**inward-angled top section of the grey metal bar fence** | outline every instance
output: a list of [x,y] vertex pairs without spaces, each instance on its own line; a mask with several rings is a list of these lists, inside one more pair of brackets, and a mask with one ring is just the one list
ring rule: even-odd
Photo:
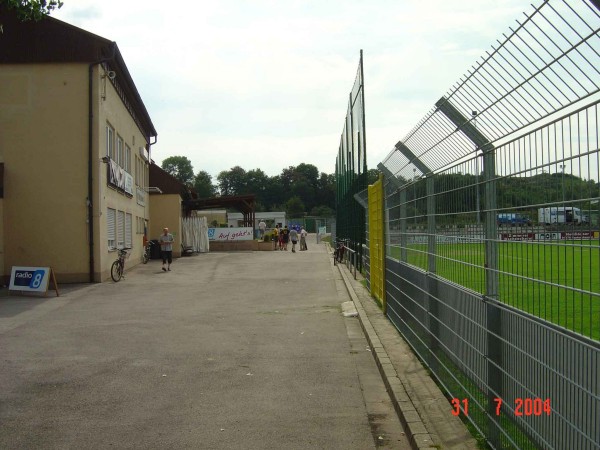
[[[438,171],[485,145],[467,138],[467,127],[499,145],[599,97],[597,6],[588,0],[545,0],[509,27],[401,142]],[[441,113],[444,103],[465,118],[463,127]],[[419,175],[413,163],[396,148],[383,161],[404,180]]]

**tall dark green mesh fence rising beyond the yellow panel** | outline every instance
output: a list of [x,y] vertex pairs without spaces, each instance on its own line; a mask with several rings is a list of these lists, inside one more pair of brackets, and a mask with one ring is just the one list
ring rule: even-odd
[[365,96],[363,54],[356,72],[348,101],[348,113],[335,162],[336,235],[347,239],[350,248],[359,256],[365,236],[365,210],[354,201],[354,195],[367,187],[367,150],[365,136]]

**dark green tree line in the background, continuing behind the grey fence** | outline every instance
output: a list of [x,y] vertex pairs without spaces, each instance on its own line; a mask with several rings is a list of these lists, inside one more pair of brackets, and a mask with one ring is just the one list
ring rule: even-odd
[[[336,206],[335,174],[319,172],[312,164],[301,163],[282,169],[279,175],[268,176],[261,169],[245,170],[240,166],[212,176],[200,170],[194,173],[191,161],[185,156],[171,156],[162,162],[162,168],[179,181],[193,189],[200,198],[254,194],[256,211],[285,211],[288,217],[320,216],[334,217]],[[378,170],[367,173],[368,184],[378,178]],[[438,214],[450,214],[448,220],[457,220],[459,211],[485,210],[485,186],[482,174],[438,174],[435,176],[436,210]],[[399,177],[400,184],[410,180]],[[477,195],[476,187],[479,187]],[[497,208],[515,209],[536,217],[536,208],[530,205],[572,202],[586,199],[578,204],[585,211],[597,211],[598,205],[590,203],[600,192],[600,184],[574,175],[540,173],[530,177],[499,177],[496,182]],[[414,198],[426,196],[424,180],[414,187],[407,187],[409,213],[426,214],[426,203],[413,202]],[[479,208],[477,207],[479,202]],[[411,210],[412,209],[412,210]],[[445,216],[442,216],[445,217]],[[440,221],[443,222],[442,217]],[[454,218],[454,219],[452,219]]]

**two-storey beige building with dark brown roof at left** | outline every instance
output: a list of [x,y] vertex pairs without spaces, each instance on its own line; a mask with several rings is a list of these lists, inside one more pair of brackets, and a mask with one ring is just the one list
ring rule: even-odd
[[141,260],[157,132],[116,43],[0,12],[0,275],[106,280]]

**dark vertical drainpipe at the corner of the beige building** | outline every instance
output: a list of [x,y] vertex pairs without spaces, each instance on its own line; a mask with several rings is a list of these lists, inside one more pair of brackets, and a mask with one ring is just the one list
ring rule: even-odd
[[88,245],[90,253],[90,283],[94,282],[95,261],[94,261],[94,205],[92,197],[94,195],[94,102],[93,102],[93,85],[94,85],[94,66],[111,61],[117,54],[117,44],[111,43],[112,55],[107,58],[102,58],[89,65],[88,72]]

